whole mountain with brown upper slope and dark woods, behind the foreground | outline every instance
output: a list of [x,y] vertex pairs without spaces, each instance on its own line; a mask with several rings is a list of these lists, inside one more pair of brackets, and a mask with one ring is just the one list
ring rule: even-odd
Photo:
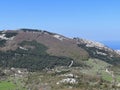
[[0,56],[3,67],[42,70],[55,66],[84,66],[83,61],[97,58],[119,64],[120,56],[103,44],[34,29],[0,32]]

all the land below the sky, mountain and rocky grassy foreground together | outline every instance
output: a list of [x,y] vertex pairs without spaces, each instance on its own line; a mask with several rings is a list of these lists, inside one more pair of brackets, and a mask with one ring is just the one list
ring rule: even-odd
[[0,85],[18,90],[119,90],[119,64],[119,52],[99,42],[35,29],[0,32]]

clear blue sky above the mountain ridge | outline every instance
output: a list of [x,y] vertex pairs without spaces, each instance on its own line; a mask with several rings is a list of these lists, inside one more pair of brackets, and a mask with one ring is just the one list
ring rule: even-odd
[[119,41],[120,0],[0,0],[0,30],[18,28]]

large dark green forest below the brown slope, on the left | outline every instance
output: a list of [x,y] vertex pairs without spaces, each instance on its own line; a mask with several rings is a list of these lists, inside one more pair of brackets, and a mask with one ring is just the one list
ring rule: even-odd
[[[15,51],[0,52],[1,67],[27,68],[30,71],[51,69],[55,66],[69,66],[68,57],[51,56],[46,53],[47,47],[36,41],[23,41]],[[25,50],[25,47],[26,50]],[[74,61],[73,66],[81,66]]]

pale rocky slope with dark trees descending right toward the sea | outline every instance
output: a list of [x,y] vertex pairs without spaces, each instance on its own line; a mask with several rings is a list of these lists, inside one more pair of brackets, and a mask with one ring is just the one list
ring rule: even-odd
[[79,47],[89,53],[91,58],[97,58],[113,65],[119,65],[120,55],[116,50],[113,50],[102,43],[74,38]]

